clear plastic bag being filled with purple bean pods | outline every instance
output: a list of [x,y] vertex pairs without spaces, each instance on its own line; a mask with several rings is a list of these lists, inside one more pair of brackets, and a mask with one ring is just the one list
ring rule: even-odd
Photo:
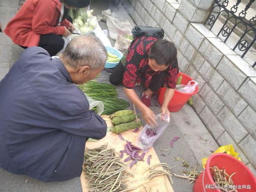
[[156,115],[155,121],[157,125],[152,127],[151,125],[146,124],[143,127],[143,130],[136,141],[137,146],[139,146],[142,150],[146,150],[147,148],[153,146],[153,144],[163,135],[166,127],[168,126],[170,118],[166,116],[165,120],[162,120],[161,115],[162,114]]

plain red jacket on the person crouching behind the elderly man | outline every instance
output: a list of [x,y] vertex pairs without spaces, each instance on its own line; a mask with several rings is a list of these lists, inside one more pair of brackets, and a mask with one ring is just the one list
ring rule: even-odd
[[64,19],[61,26],[56,26],[61,6],[60,0],[27,0],[4,32],[14,44],[26,47],[38,46],[42,34],[63,35],[64,26],[68,27],[70,22]]

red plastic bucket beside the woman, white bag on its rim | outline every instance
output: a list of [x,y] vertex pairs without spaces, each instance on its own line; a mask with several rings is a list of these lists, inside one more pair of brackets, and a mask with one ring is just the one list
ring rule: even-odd
[[[188,75],[186,75],[185,73],[179,73],[178,77],[180,77],[182,74],[182,81],[181,84],[187,84],[189,81],[193,80],[191,77],[189,77]],[[159,104],[162,106],[163,102],[164,102],[164,94],[165,94],[166,88],[161,88],[160,89],[160,93],[159,93],[159,97],[158,97],[158,102]],[[172,99],[170,100],[169,104],[168,104],[168,110],[170,112],[178,112],[180,111],[183,106],[186,104],[186,102],[188,101],[188,99],[196,94],[198,92],[198,86],[196,86],[196,89],[193,93],[184,93],[178,90],[174,91],[174,95],[172,97]]]

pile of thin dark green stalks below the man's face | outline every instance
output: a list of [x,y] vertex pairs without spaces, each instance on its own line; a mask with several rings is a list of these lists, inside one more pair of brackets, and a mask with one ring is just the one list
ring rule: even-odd
[[93,80],[80,84],[78,88],[92,99],[103,102],[104,111],[102,115],[111,115],[129,106],[126,100],[117,97],[116,88],[109,83],[101,83]]

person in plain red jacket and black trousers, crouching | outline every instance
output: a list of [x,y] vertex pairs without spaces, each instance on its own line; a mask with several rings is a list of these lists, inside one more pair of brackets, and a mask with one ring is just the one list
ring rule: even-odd
[[4,32],[14,44],[26,49],[44,48],[50,56],[64,47],[74,26],[67,20],[68,9],[84,8],[89,0],[27,0],[10,20]]

